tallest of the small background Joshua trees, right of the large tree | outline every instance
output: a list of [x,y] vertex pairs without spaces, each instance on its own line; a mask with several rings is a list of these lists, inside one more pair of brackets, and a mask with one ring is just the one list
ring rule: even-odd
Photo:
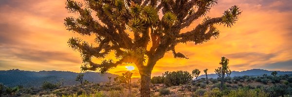
[[[225,58],[225,57],[221,57],[221,62],[219,63],[221,65],[221,84],[220,84],[220,88],[221,90],[223,90],[223,85],[224,85],[224,77],[225,77],[225,74],[226,74],[226,71],[228,71],[229,69],[229,59]],[[220,72],[220,68],[217,69],[218,72]],[[217,72],[217,70],[215,70],[215,72]],[[218,73],[217,72],[217,73]]]

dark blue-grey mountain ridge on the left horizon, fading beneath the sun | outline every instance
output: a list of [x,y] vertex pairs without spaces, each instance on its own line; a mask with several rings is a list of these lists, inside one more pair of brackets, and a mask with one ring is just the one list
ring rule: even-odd
[[[17,86],[23,85],[24,87],[40,87],[44,81],[49,81],[52,83],[57,83],[59,81],[64,81],[64,86],[80,84],[75,81],[78,73],[70,71],[24,71],[24,70],[0,70],[0,83],[6,86]],[[113,78],[118,75],[106,73],[105,75],[100,75],[98,72],[85,72],[84,80],[90,82],[107,82],[108,77]]]

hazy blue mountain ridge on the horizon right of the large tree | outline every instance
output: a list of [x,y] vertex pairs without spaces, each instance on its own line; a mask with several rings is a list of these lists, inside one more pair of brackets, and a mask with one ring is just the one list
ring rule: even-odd
[[[263,69],[251,69],[246,71],[232,71],[231,77],[235,76],[259,76],[263,74],[271,75],[273,71],[263,70]],[[285,74],[292,74],[292,71],[277,71],[277,75],[285,75]],[[201,75],[198,79],[206,78],[205,75]],[[216,74],[208,74],[208,78],[218,78]]]

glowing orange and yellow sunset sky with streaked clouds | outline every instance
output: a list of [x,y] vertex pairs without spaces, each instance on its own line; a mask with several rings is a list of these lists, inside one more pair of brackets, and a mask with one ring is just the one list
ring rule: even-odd
[[[233,27],[218,25],[219,38],[207,43],[176,46],[189,59],[175,59],[166,53],[152,76],[195,68],[214,73],[221,56],[230,59],[230,69],[235,71],[292,71],[292,0],[218,0],[207,16],[221,16],[232,5],[243,11]],[[0,0],[0,70],[80,72],[80,54],[67,44],[70,37],[79,36],[66,30],[63,23],[68,16],[76,15],[67,12],[65,0]],[[202,19],[182,32],[195,28]],[[83,38],[90,41],[94,37]],[[127,70],[125,66],[119,65],[110,73],[121,75]],[[137,68],[132,72],[139,77]]]

